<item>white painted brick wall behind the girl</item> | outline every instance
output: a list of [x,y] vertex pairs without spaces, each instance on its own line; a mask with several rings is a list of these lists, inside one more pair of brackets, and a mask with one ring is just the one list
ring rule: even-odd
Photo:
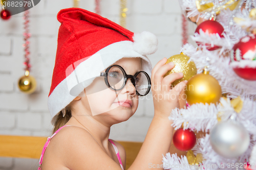
[[[52,125],[47,98],[60,26],[56,15],[60,9],[72,6],[73,0],[41,0],[30,9],[30,73],[38,85],[36,92],[30,95],[20,92],[17,86],[18,79],[24,75],[24,13],[9,20],[0,19],[0,135],[50,135]],[[101,0],[100,6],[103,17],[119,23],[119,0]],[[94,0],[81,0],[80,8],[95,12]],[[163,57],[179,54],[182,30],[178,0],[128,0],[127,8],[127,29],[150,31],[158,37],[158,51],[148,55],[153,67]],[[189,23],[189,28],[193,34],[196,26]],[[143,141],[153,116],[150,93],[140,99],[134,116],[111,128],[110,138]],[[37,165],[37,159],[0,158],[0,170],[37,169]]]

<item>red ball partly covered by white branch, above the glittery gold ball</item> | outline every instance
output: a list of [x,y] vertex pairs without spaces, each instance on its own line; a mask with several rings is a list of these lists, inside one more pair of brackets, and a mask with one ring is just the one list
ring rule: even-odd
[[[195,33],[199,33],[199,30],[202,29],[202,31],[204,33],[206,33],[206,31],[208,32],[208,34],[219,34],[220,37],[224,37],[222,35],[222,33],[224,32],[224,28],[222,27],[222,25],[214,20],[206,20],[202,23],[200,23],[200,25],[197,27]],[[202,44],[201,42],[197,42],[198,45]],[[212,50],[217,50],[218,48],[220,48],[220,46],[214,45],[213,47],[210,46],[210,44],[205,44],[207,47],[207,50],[212,51]]]

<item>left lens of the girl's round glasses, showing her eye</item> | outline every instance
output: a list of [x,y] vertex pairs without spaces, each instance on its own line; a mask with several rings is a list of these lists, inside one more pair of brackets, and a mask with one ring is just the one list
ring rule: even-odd
[[111,67],[108,73],[108,81],[113,89],[121,89],[124,83],[123,71],[117,66]]

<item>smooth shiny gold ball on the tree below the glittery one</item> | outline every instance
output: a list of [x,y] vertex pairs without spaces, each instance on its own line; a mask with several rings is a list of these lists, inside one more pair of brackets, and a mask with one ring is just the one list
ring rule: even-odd
[[189,105],[195,103],[216,104],[221,98],[221,86],[214,77],[206,72],[188,80],[185,94]]

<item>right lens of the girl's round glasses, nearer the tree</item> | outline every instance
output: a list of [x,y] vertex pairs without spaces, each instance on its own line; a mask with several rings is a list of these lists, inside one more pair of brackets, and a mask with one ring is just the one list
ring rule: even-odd
[[141,95],[146,94],[148,88],[150,88],[150,84],[148,83],[147,76],[144,72],[140,72],[135,80],[135,86]]

